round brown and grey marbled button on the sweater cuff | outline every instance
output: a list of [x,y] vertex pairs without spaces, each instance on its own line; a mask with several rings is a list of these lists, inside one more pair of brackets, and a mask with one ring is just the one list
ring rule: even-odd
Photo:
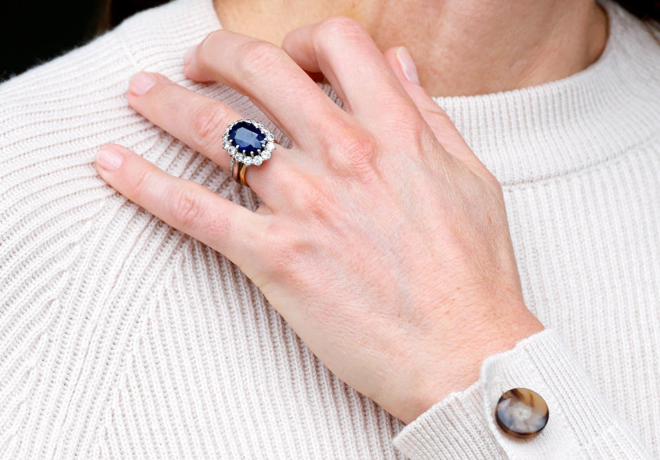
[[500,397],[495,419],[502,431],[519,439],[535,437],[548,423],[548,404],[529,388],[513,388]]

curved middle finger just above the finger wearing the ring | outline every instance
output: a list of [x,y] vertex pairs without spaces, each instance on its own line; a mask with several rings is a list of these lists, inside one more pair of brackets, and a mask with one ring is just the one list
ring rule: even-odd
[[246,94],[288,138],[315,146],[319,133],[348,115],[280,47],[228,30],[212,32],[187,54],[189,78]]

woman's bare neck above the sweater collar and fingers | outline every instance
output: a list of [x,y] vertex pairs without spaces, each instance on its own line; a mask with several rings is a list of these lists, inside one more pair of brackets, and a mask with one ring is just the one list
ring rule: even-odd
[[381,50],[404,45],[432,96],[540,85],[592,64],[607,39],[593,0],[215,0],[223,28],[279,45],[331,16],[360,21]]

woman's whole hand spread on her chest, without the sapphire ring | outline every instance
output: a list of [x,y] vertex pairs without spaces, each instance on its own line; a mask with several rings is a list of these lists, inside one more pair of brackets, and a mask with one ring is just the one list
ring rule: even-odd
[[[500,185],[407,80],[405,50],[383,56],[341,17],[282,48],[221,30],[185,59],[189,78],[248,95],[292,141],[248,167],[256,212],[121,146],[100,149],[98,173],[227,256],[330,370],[412,421],[543,329],[523,302]],[[305,71],[322,72],[345,110]],[[128,97],[228,167],[222,135],[242,114],[157,74],[137,74]]]

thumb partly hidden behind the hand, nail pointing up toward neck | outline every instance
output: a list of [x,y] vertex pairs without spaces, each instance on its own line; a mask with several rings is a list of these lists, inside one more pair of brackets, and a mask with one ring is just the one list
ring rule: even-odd
[[398,78],[403,86],[403,89],[405,89],[422,113],[424,120],[431,127],[440,144],[443,144],[445,150],[465,163],[473,173],[482,177],[486,173],[490,175],[486,166],[473,153],[462,135],[460,135],[454,123],[447,116],[447,113],[443,109],[440,109],[440,106],[419,85],[414,61],[412,61],[412,57],[405,47],[390,48],[384,55],[387,63],[394,70],[396,78]]

